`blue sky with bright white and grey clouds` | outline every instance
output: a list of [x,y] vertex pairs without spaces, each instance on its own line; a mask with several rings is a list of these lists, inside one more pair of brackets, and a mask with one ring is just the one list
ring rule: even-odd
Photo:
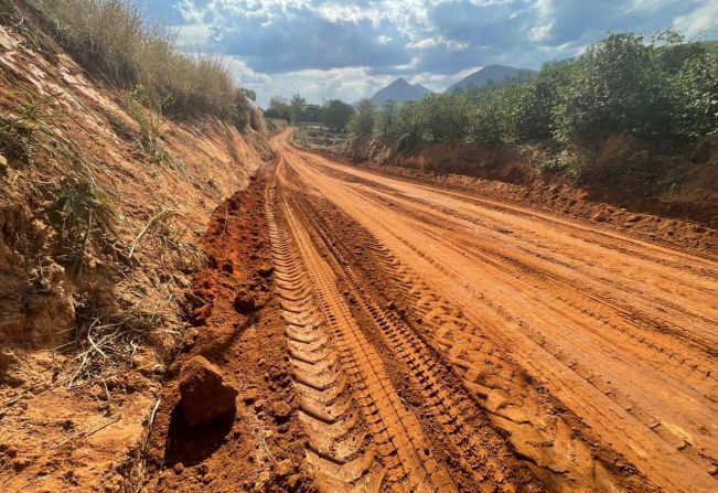
[[146,14],[237,83],[356,101],[397,77],[443,90],[482,66],[540,68],[609,32],[718,37],[718,0],[151,0]]

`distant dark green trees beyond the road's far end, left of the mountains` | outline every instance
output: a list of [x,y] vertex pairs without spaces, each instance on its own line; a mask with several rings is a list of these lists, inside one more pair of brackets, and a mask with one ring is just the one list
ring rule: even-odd
[[300,122],[323,124],[330,130],[344,131],[354,114],[354,108],[339,99],[324,101],[322,106],[308,104],[299,94],[291,99],[276,96],[269,100],[266,118],[278,118],[290,125]]

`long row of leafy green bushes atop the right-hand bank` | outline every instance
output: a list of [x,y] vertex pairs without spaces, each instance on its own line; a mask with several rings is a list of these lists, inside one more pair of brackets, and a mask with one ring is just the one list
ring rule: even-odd
[[[586,146],[623,133],[685,143],[718,133],[718,46],[667,31],[652,39],[612,34],[574,60],[544,65],[511,84],[430,95],[398,106],[360,104],[350,122],[360,138],[481,144]],[[547,172],[580,179],[577,160]]]

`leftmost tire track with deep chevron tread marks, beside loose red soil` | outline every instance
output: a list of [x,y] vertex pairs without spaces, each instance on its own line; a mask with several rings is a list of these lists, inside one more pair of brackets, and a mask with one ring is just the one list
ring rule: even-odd
[[269,201],[267,218],[299,416],[310,437],[307,462],[322,492],[379,492],[385,470],[376,461],[376,446],[352,398],[299,256],[277,226]]

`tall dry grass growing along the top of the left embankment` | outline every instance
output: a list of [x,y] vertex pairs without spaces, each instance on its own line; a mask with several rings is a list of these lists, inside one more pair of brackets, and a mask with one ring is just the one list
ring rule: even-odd
[[137,0],[30,0],[60,44],[114,86],[144,87],[152,107],[172,115],[214,115],[250,124],[254,94],[235,86],[221,61],[189,55],[167,29],[143,23]]

